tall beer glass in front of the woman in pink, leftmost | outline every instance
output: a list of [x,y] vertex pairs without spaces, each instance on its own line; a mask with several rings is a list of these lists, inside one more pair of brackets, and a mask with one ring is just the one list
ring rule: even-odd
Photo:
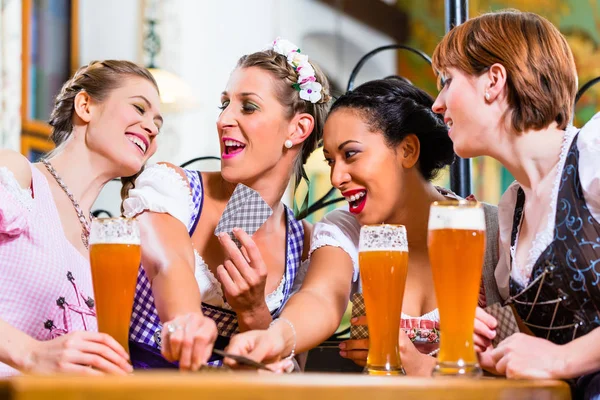
[[135,219],[92,221],[90,263],[98,331],[115,338],[126,351],[140,260],[140,229]]

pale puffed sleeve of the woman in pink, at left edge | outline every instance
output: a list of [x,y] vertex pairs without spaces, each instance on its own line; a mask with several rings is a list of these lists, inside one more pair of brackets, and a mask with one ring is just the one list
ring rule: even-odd
[[0,168],[0,236],[19,236],[28,230],[28,215],[33,207],[30,189],[23,189],[14,174]]

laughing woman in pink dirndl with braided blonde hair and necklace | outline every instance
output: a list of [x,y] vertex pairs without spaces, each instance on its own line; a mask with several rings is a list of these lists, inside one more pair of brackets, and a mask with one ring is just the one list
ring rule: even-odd
[[97,332],[89,216],[108,181],[155,152],[159,104],[147,70],[95,61],[56,97],[50,155],[32,164],[0,150],[0,376],[131,371],[125,350]]

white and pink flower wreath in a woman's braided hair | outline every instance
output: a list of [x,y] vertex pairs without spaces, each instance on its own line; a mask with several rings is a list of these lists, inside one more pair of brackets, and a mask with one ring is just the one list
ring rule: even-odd
[[294,71],[298,74],[298,81],[292,87],[300,92],[300,98],[313,104],[318,103],[323,97],[321,94],[323,86],[317,82],[315,70],[308,62],[308,56],[302,54],[298,46],[281,38],[273,42],[273,51],[284,55],[288,63],[294,67]]

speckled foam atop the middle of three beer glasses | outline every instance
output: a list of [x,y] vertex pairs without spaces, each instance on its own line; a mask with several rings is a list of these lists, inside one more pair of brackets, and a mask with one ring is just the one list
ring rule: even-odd
[[358,251],[408,251],[402,225],[365,225],[360,228]]

